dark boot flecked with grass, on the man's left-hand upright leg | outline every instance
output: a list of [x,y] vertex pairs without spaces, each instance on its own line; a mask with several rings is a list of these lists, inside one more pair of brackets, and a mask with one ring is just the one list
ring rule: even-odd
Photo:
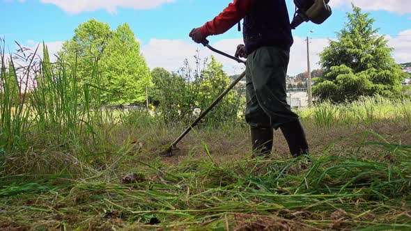
[[272,128],[251,127],[253,157],[268,156],[271,154],[273,133]]

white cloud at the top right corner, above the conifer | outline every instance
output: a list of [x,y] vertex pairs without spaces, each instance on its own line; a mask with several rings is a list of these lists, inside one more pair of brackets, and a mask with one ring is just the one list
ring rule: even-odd
[[331,0],[329,5],[332,8],[350,7],[351,3],[363,10],[386,10],[401,15],[411,13],[410,1],[404,0]]

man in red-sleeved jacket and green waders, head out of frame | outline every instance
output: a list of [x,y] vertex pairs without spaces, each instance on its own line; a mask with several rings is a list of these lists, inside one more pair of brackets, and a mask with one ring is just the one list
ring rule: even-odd
[[308,154],[300,118],[286,102],[286,72],[293,36],[285,0],[234,0],[189,36],[200,43],[209,35],[228,31],[241,19],[245,45],[238,45],[235,56],[247,58],[245,118],[251,128],[253,154],[270,154],[273,129],[279,128],[293,157]]

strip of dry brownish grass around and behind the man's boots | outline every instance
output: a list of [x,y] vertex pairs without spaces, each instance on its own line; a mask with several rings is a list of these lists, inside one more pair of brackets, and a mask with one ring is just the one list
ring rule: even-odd
[[[381,120],[373,125],[362,126],[346,126],[335,125],[327,129],[319,129],[313,123],[304,122],[306,129],[307,140],[309,142],[311,153],[316,156],[322,154],[329,145],[333,145],[333,154],[343,157],[346,153],[356,152],[359,145],[366,141],[380,142],[380,138],[367,132],[375,132],[384,137],[389,143],[398,143],[403,145],[411,145],[411,129],[408,126],[398,124],[391,120]],[[183,129],[173,129],[167,131],[166,134],[149,134],[147,140],[141,139],[143,150],[141,150],[141,159],[150,161],[159,148],[166,146],[173,138],[179,135]],[[155,131],[153,131],[155,132]],[[186,160],[201,160],[207,161],[208,155],[201,143],[203,140],[210,150],[213,159],[218,164],[227,164],[231,161],[240,161],[251,158],[251,140],[249,137],[249,129],[244,127],[236,127],[231,134],[225,131],[215,129],[212,133],[199,129],[200,137],[196,134],[188,134],[181,143],[178,144],[179,150],[173,152],[171,158],[160,159],[160,162],[167,166],[176,166]],[[367,135],[369,134],[369,135]],[[157,136],[157,138],[152,138]],[[151,137],[151,138],[149,138]],[[165,142],[164,142],[165,141]],[[160,143],[160,145],[158,145]],[[380,158],[380,149],[364,148],[363,157],[370,159]],[[149,154],[147,154],[147,152]],[[274,133],[274,147],[271,159],[286,160],[290,158],[288,153],[288,145],[281,131]]]

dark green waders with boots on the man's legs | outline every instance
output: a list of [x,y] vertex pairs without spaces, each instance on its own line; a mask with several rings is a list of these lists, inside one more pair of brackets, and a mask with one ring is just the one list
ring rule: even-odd
[[247,108],[253,154],[270,154],[273,129],[281,128],[293,157],[308,154],[300,118],[287,103],[286,73],[290,51],[260,47],[247,56]]

